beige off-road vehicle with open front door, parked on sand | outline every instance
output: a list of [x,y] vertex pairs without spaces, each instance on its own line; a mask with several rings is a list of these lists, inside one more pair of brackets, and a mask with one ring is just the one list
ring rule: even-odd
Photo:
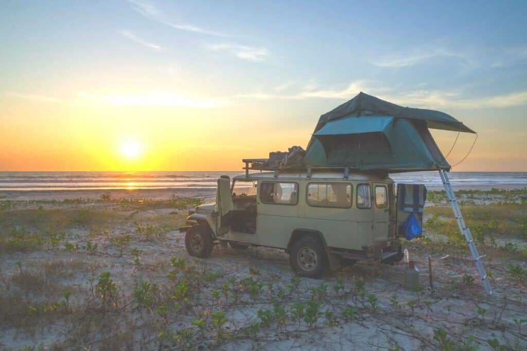
[[[319,278],[346,260],[402,259],[389,177],[338,170],[246,173],[218,179],[216,203],[189,213],[185,244],[206,258],[214,244],[284,249],[292,269]],[[419,216],[419,219],[420,216]],[[397,224],[397,225],[395,225]]]

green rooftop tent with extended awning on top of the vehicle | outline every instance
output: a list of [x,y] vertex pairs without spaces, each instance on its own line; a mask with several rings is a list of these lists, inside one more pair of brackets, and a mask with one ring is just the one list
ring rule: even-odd
[[450,171],[428,128],[475,133],[454,117],[359,93],[320,116],[304,165],[388,173]]

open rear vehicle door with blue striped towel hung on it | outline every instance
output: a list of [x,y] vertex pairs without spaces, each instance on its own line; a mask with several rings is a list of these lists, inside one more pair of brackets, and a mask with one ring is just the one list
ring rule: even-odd
[[395,218],[398,237],[405,236],[404,223],[410,215],[414,215],[421,227],[423,227],[426,192],[426,186],[423,184],[397,184],[397,212]]

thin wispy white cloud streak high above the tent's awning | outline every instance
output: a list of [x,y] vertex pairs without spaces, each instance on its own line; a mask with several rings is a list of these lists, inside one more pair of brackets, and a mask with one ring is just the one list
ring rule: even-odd
[[464,53],[455,52],[445,48],[415,49],[411,53],[393,55],[392,57],[372,61],[378,67],[405,67],[413,66],[436,57],[456,57],[462,59],[466,64],[473,66],[472,59]]

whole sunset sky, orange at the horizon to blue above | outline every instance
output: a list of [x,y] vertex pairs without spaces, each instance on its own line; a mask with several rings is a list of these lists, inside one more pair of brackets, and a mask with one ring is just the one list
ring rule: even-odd
[[[525,2],[0,3],[0,171],[218,171],[306,147],[363,91],[527,171]],[[457,133],[432,131],[446,154]],[[447,160],[469,152],[461,134]]]

